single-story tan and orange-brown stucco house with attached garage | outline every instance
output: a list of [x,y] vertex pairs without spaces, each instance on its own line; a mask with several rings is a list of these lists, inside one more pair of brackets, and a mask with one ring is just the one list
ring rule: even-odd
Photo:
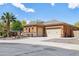
[[79,28],[57,20],[44,23],[31,23],[24,27],[23,35],[27,37],[73,37]]

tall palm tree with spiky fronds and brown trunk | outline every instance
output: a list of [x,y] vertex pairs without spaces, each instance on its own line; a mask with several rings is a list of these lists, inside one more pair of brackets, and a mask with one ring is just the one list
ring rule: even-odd
[[15,19],[16,17],[10,12],[5,12],[1,16],[1,20],[3,20],[5,24],[5,28],[6,28],[5,30],[7,33],[7,37],[9,37],[9,33],[10,33],[10,22],[15,21]]

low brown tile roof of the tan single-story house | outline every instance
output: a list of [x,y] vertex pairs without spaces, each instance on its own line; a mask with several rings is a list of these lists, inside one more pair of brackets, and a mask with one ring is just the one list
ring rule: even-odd
[[[73,28],[77,28],[74,25],[62,22],[62,21],[58,21],[58,20],[51,20],[51,21],[47,21],[47,22],[42,22],[42,21],[34,21],[34,22],[30,22],[28,25],[26,26],[32,26],[32,25],[38,25],[38,26],[45,26],[45,25],[57,25],[57,24],[65,24],[68,26],[71,26]],[[77,28],[79,29],[79,28]]]

